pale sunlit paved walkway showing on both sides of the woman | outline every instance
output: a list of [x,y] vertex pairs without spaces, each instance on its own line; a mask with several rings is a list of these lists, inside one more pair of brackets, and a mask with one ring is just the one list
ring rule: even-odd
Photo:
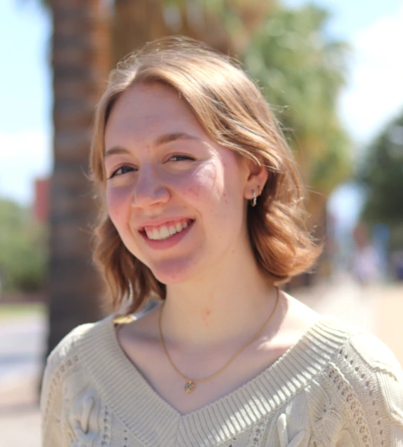
[[[374,333],[403,365],[403,283],[362,289],[348,277],[337,277],[294,296],[321,314],[333,314]],[[37,385],[33,373],[0,380],[0,447],[40,447]]]

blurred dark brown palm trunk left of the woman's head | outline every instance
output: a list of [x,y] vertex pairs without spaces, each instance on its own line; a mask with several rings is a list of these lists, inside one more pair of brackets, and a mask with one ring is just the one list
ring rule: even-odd
[[48,352],[72,328],[102,316],[92,265],[94,199],[87,179],[91,123],[110,67],[103,0],[49,0],[53,18],[54,168],[50,184]]

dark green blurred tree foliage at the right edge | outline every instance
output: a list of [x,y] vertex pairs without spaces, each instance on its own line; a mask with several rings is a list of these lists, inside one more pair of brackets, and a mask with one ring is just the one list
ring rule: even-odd
[[403,113],[370,145],[359,177],[368,188],[364,219],[402,226]]

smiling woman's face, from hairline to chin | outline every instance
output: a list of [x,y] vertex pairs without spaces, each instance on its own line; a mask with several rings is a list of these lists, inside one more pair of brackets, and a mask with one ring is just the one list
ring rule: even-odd
[[160,282],[208,275],[248,240],[248,164],[209,138],[174,89],[124,92],[105,147],[109,216]]

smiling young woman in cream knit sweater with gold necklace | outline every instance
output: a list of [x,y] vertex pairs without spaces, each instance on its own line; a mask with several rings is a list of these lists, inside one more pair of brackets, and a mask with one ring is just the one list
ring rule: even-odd
[[292,153],[237,65],[185,38],[128,57],[91,164],[118,311],[50,355],[44,446],[403,445],[392,353],[277,286],[319,248]]

